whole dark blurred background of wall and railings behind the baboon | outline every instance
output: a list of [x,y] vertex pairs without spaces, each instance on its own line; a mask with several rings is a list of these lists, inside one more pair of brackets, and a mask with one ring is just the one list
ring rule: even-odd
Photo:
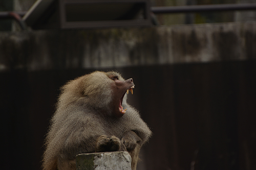
[[156,12],[255,0],[35,2],[0,1],[1,169],[41,169],[59,87],[94,70],[134,79],[153,131],[137,169],[256,169],[256,8]]

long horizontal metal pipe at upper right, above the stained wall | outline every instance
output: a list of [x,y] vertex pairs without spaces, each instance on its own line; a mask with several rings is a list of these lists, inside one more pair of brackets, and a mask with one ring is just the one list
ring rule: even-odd
[[223,4],[223,5],[191,5],[191,6],[176,6],[176,7],[151,7],[151,11],[155,14],[187,13],[187,12],[241,11],[241,10],[256,10],[256,3]]

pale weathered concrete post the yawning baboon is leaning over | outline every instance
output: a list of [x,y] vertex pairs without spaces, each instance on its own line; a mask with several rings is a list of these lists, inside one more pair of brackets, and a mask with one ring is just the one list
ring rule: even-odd
[[76,156],[76,169],[125,169],[131,170],[132,158],[128,152],[101,152]]

